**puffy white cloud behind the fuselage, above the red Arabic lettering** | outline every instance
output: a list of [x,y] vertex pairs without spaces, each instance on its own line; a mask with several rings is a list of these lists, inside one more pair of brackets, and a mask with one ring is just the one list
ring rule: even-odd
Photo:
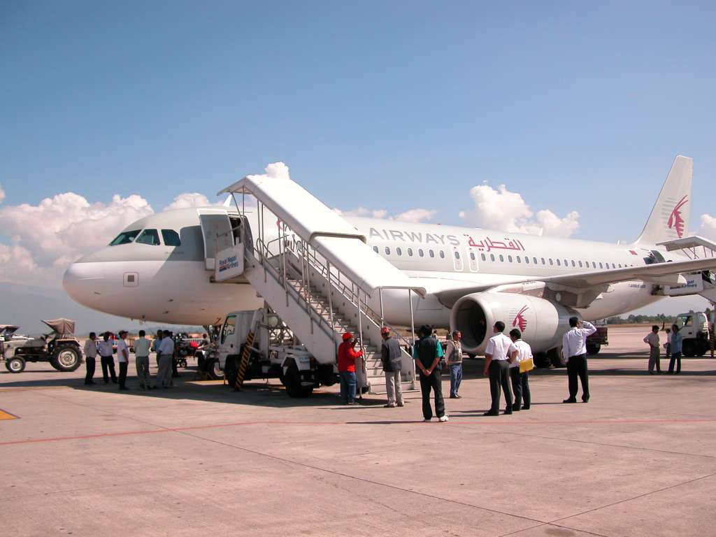
[[569,237],[579,229],[576,211],[567,213],[564,218],[548,209],[533,213],[522,196],[510,192],[505,185],[498,186],[497,190],[489,185],[474,186],[470,189],[470,198],[475,208],[460,212],[460,218],[468,226],[558,237]]

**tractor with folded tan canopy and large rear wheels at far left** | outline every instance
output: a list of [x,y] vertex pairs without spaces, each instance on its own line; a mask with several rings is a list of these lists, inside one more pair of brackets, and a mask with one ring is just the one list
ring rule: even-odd
[[82,350],[74,337],[74,321],[42,321],[52,329],[49,334],[32,339],[10,339],[2,342],[1,352],[9,372],[19,373],[27,362],[49,362],[58,371],[74,371],[82,364]]

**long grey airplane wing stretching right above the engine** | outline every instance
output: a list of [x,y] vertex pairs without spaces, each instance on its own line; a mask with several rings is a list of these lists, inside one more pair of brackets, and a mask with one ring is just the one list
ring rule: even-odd
[[[626,269],[608,269],[589,272],[574,272],[561,274],[559,276],[548,276],[546,278],[524,277],[511,281],[503,281],[500,284],[473,284],[460,287],[453,287],[445,291],[438,291],[437,298],[442,304],[451,308],[460,297],[470,293],[479,293],[489,289],[508,288],[515,284],[556,284],[565,286],[576,291],[588,289],[606,288],[609,284],[618,284],[621,281],[655,281],[664,283],[663,279],[671,277],[673,281],[667,284],[676,285],[676,277],[679,274],[716,270],[716,258],[693,259],[690,261],[669,261],[666,263],[653,263],[651,265],[630,266]],[[659,280],[662,281],[659,281]],[[525,286],[527,287],[527,286]],[[509,292],[519,292],[516,289],[505,289]],[[527,289],[525,290],[525,292]],[[601,291],[599,291],[601,292]]]

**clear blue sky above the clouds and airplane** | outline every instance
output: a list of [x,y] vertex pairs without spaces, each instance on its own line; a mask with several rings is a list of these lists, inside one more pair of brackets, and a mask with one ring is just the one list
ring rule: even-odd
[[[260,5],[259,5],[260,4]],[[155,208],[283,160],[329,205],[438,210],[505,183],[635,238],[674,155],[713,213],[716,4],[0,4],[6,204]]]

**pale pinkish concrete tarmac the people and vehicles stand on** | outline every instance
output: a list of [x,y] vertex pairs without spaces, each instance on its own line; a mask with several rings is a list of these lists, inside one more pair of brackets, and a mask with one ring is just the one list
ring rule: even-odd
[[589,403],[563,405],[566,370],[540,369],[511,416],[483,417],[468,359],[446,423],[422,422],[420,392],[346,407],[337,387],[233,392],[191,368],[144,392],[133,360],[130,392],[99,364],[91,388],[84,366],[3,368],[0,535],[714,536],[716,361],[649,375],[647,333],[610,329]]

